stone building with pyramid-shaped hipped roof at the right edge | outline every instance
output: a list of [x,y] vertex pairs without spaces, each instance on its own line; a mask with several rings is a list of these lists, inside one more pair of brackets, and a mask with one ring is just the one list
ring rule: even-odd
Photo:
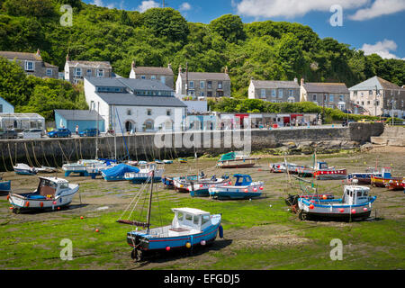
[[354,85],[349,91],[355,113],[364,110],[369,115],[380,116],[392,115],[393,111],[395,117],[405,116],[405,89],[379,76]]

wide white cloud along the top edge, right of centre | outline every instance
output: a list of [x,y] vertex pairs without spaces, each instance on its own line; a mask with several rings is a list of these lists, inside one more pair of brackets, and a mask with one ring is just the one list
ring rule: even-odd
[[[402,0],[403,1],[403,0]],[[238,14],[253,17],[294,17],[311,11],[329,12],[330,6],[339,4],[343,9],[354,9],[369,0],[241,0],[236,4]]]

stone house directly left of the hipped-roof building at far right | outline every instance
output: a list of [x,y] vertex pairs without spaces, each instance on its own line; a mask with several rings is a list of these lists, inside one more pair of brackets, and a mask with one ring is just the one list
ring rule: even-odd
[[345,83],[305,83],[302,78],[300,100],[342,111],[350,108],[350,94]]

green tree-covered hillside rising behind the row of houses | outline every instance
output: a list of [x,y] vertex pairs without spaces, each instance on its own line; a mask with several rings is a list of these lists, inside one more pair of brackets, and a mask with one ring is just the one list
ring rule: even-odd
[[[65,13],[59,10],[61,4],[73,7],[73,26],[59,23]],[[237,98],[247,97],[251,77],[303,76],[306,81],[352,86],[378,75],[405,84],[405,61],[365,56],[337,40],[320,39],[311,27],[299,23],[242,23],[232,14],[209,24],[187,23],[172,8],[139,13],[80,0],[0,0],[0,7],[0,50],[39,48],[42,58],[60,71],[67,53],[70,59],[110,61],[121,76],[129,76],[132,60],[139,66],[171,63],[175,75],[185,62],[190,71],[218,72],[228,66]]]

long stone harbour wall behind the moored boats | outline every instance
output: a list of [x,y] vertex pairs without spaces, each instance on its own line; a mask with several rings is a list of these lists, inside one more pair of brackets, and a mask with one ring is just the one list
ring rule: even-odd
[[[130,158],[134,160],[153,160],[190,157],[195,153],[198,156],[205,153],[219,155],[232,150],[242,150],[244,146],[241,145],[245,145],[246,148],[246,144],[250,145],[251,151],[277,148],[286,142],[305,141],[342,141],[351,143],[350,146],[356,146],[370,141],[371,137],[380,136],[383,130],[383,123],[350,123],[349,127],[251,130],[251,140],[247,139],[247,142],[244,142],[243,130],[186,131],[165,134],[166,139],[161,136],[161,142],[157,141],[158,146],[155,134],[139,133],[124,137],[117,136],[116,150],[118,158],[130,154]],[[233,137],[240,140],[233,141]],[[61,166],[63,163],[82,158],[94,158],[96,140],[96,138],[0,140],[0,170],[11,170],[15,163],[26,163],[31,166]],[[162,144],[164,140],[166,145]],[[194,147],[193,143],[195,143]],[[164,147],[159,148],[161,146]],[[114,137],[98,138],[98,148],[98,157],[114,157]]]

